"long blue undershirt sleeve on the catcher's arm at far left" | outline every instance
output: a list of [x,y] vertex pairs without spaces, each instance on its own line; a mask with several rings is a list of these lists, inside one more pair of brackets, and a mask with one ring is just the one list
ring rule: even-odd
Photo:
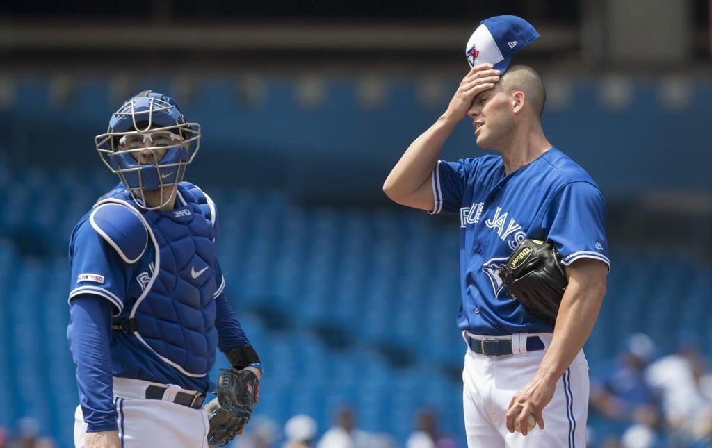
[[114,305],[103,297],[73,297],[67,328],[87,432],[116,430],[109,339]]

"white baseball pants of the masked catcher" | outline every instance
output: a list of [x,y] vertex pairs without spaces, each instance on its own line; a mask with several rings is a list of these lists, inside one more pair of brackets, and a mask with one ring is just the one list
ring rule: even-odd
[[[114,379],[114,404],[122,448],[208,448],[208,415],[163,400],[146,400],[147,381]],[[84,447],[87,425],[82,409],[74,413],[74,444]]]

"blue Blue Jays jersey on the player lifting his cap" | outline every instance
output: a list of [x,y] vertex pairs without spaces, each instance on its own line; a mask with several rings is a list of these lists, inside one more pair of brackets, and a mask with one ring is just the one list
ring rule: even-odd
[[553,331],[508,297],[497,274],[525,238],[552,241],[564,265],[580,258],[609,265],[603,195],[556,148],[508,176],[501,156],[487,155],[439,161],[431,179],[431,213],[459,214],[460,329],[492,336]]

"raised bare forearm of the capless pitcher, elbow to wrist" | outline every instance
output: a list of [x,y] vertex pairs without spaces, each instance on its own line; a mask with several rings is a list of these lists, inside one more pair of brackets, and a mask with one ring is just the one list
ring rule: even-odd
[[408,146],[383,184],[383,191],[390,198],[408,196],[430,178],[440,151],[458,121],[446,112]]

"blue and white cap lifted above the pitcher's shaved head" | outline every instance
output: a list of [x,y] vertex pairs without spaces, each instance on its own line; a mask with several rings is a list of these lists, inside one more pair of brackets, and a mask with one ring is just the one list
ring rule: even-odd
[[504,73],[511,56],[520,48],[528,46],[539,37],[531,23],[517,16],[486,18],[470,36],[465,47],[465,56],[470,68],[490,63]]

